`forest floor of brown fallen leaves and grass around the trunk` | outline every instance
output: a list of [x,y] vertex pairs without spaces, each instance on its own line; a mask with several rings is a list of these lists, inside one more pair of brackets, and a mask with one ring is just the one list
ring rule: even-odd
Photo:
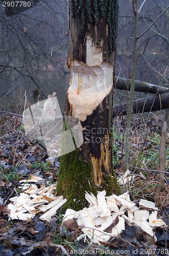
[[[137,205],[140,199],[153,201],[158,183],[159,146],[164,112],[135,115],[132,119],[129,170],[131,180],[122,184]],[[113,161],[117,178],[124,172],[124,136],[126,117],[114,120]],[[43,141],[31,141],[24,134],[21,118],[9,113],[0,116],[0,255],[169,255],[169,136],[165,150],[164,183],[157,207],[158,218],[165,225],[154,227],[150,236],[138,226],[125,222],[125,229],[109,241],[95,244],[72,224],[63,232],[63,212],[58,209],[50,222],[41,220],[42,213],[26,220],[11,219],[10,199],[24,192],[26,180],[34,175],[31,185],[39,189],[55,184],[58,179],[59,158],[49,161]],[[135,168],[137,167],[137,168]],[[154,170],[154,172],[153,172]],[[150,172],[149,172],[150,171]],[[39,179],[38,179],[39,177]],[[21,180],[24,179],[23,185]],[[34,186],[35,187],[35,186]],[[54,191],[54,190],[53,190]],[[53,194],[53,197],[57,195]],[[77,223],[76,223],[77,224]],[[76,241],[77,237],[81,239]]]

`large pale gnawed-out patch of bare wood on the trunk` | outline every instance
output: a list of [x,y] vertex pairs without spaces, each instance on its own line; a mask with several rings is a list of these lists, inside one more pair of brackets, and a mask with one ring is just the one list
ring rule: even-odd
[[93,113],[112,88],[112,66],[105,62],[99,64],[88,66],[73,61],[67,95],[72,115],[80,121]]

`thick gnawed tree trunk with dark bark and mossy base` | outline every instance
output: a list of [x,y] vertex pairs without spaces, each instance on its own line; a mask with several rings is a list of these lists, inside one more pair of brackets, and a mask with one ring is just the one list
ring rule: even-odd
[[118,24],[117,0],[72,0],[65,115],[81,122],[83,144],[60,159],[58,193],[73,209],[85,190],[119,192],[111,165],[112,86]]

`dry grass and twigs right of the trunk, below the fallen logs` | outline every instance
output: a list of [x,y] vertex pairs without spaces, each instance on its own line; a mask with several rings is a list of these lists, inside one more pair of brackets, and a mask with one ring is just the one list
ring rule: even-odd
[[[131,198],[137,200],[140,198],[153,201],[155,187],[159,184],[159,173],[151,170],[159,170],[159,145],[161,138],[161,127],[163,124],[164,112],[157,112],[156,115],[136,115],[132,119],[132,134],[130,144],[129,170],[134,175],[134,178],[128,182],[123,188],[124,191],[129,190]],[[122,176],[124,172],[124,142],[122,130],[126,125],[126,117],[123,120],[118,117],[115,120],[114,145],[114,163],[120,164],[118,169],[115,169],[117,176]],[[119,141],[121,143],[119,143]],[[165,149],[165,170],[169,170],[169,134],[167,134],[166,149]],[[121,152],[121,154],[120,154]],[[116,154],[118,153],[118,154]],[[119,156],[120,157],[117,157]],[[136,169],[139,167],[141,169]],[[147,170],[150,170],[148,172]],[[169,173],[168,173],[169,175]],[[165,208],[169,205],[168,191],[168,175],[166,174],[164,184],[158,198],[158,207]]]

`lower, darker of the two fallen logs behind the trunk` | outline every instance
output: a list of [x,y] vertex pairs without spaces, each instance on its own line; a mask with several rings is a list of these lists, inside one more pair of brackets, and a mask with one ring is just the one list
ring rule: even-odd
[[[155,96],[137,99],[133,101],[133,114],[139,112],[150,112],[169,109],[169,92],[156,94]],[[112,117],[120,114],[127,115],[128,103],[119,103],[114,105]]]

